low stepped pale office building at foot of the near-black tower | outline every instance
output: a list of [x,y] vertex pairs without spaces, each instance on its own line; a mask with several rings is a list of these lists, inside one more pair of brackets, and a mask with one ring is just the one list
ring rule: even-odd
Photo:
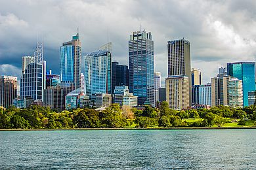
[[114,103],[119,104],[121,107],[123,105],[129,107],[135,107],[138,105],[138,97],[129,93],[128,86],[116,86],[114,91]]

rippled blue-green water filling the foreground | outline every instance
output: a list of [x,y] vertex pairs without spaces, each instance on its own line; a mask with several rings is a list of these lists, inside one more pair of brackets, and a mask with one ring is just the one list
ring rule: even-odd
[[0,131],[0,169],[255,169],[256,129]]

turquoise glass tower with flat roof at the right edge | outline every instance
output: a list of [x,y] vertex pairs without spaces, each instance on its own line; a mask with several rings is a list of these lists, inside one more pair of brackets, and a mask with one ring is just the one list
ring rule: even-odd
[[255,90],[255,62],[227,63],[228,75],[243,83],[244,107],[248,106],[248,92]]

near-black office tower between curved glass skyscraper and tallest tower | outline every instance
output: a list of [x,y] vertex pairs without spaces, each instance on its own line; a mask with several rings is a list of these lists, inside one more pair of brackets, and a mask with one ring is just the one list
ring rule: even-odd
[[112,93],[116,86],[129,86],[129,69],[115,61],[112,62]]

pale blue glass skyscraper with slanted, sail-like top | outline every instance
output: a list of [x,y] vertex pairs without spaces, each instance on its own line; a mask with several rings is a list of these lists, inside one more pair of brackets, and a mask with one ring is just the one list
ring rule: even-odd
[[85,88],[91,100],[96,93],[111,93],[111,58],[106,50],[85,56]]

